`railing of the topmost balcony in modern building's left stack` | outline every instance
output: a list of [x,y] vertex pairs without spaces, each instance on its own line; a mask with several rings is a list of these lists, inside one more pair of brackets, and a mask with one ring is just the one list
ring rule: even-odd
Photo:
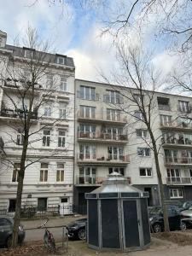
[[86,115],[84,113],[78,112],[78,119],[86,119],[86,121],[105,121],[105,122],[119,122],[119,123],[126,123],[127,119],[125,116],[121,116],[120,114],[114,114],[114,115],[107,115],[107,112],[101,112],[101,113],[92,113],[90,115]]

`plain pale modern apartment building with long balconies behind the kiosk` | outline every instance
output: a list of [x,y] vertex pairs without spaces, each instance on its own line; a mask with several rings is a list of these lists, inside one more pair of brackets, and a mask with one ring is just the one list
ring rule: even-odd
[[[122,93],[123,90],[123,93]],[[148,205],[160,204],[158,178],[150,137],[142,114],[129,98],[137,90],[91,81],[75,81],[74,202],[84,206],[84,193],[101,186],[110,172],[148,191]],[[125,94],[127,93],[127,97]],[[143,93],[148,105],[147,95]],[[124,95],[124,96],[122,96]],[[192,200],[191,98],[155,93],[150,113],[160,148],[160,171],[166,201]],[[129,106],[129,113],[125,109]]]

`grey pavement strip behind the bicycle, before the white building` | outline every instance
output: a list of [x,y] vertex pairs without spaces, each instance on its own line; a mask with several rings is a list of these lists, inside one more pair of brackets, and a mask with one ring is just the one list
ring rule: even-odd
[[[54,227],[62,227],[72,221],[75,221],[79,218],[86,218],[83,215],[79,215],[78,217],[74,217],[73,215],[70,216],[64,216],[64,217],[55,217],[55,218],[49,218],[49,221],[47,223],[48,228],[54,228]],[[41,224],[44,223],[45,218],[42,219],[21,219],[20,223],[24,226],[25,230],[34,230],[37,229]]]

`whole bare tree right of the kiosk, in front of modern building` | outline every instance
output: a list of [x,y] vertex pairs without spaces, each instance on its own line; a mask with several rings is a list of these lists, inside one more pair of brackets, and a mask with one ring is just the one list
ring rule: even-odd
[[[114,103],[113,107],[119,108],[121,112],[129,117],[128,127],[136,127],[137,124],[148,131],[149,140],[143,138],[154,153],[154,163],[160,189],[160,202],[163,209],[165,231],[169,231],[164,186],[160,170],[160,148],[163,144],[162,135],[158,132],[159,113],[157,111],[156,91],[160,89],[160,73],[156,73],[151,64],[150,55],[145,54],[141,47],[130,44],[117,45],[117,58],[119,61],[119,72],[113,73],[113,82],[124,86],[111,85],[113,90],[124,97],[124,104]],[[102,74],[109,83],[109,79]],[[111,104],[111,103],[110,103]],[[113,105],[113,104],[112,104]]]

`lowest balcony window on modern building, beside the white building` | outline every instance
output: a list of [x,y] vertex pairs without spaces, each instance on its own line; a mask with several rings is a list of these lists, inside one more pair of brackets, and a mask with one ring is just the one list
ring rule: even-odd
[[96,183],[96,168],[85,166],[79,168],[79,183],[80,184],[95,184]]

